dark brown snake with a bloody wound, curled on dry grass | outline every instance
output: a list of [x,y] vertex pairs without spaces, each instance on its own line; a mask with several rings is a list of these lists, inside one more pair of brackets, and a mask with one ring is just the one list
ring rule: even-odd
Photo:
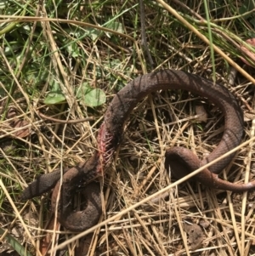
[[[59,170],[42,174],[26,187],[21,199],[28,200],[41,196],[53,189],[51,204],[61,225],[67,230],[76,232],[95,225],[102,213],[102,202],[99,183],[95,183],[94,179],[103,176],[109,167],[113,153],[121,144],[125,124],[133,108],[148,94],[168,89],[188,90],[192,94],[206,98],[224,114],[222,139],[208,156],[199,160],[192,151],[181,146],[173,146],[166,150],[165,168],[171,169],[173,176],[182,178],[241,144],[244,128],[243,112],[228,88],[185,71],[154,71],[128,82],[111,100],[99,128],[97,148],[88,161],[79,162],[73,168],[66,168],[63,174]],[[246,184],[231,183],[218,177],[234,156],[235,153],[225,156],[209,168],[204,168],[199,174],[195,174],[193,179],[218,190],[235,192],[254,190],[255,181]],[[75,212],[71,199],[77,191],[82,191],[82,187],[85,187],[83,196],[87,198],[87,205]]]

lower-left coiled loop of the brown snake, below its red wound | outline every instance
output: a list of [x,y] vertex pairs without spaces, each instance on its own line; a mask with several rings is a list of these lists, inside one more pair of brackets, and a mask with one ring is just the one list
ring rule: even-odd
[[[102,202],[100,197],[99,184],[91,181],[99,176],[99,154],[89,158],[87,162],[82,163],[80,167],[71,168],[63,175],[62,185],[60,187],[60,196],[58,202],[60,181],[54,187],[51,196],[51,207],[53,212],[58,205],[58,219],[61,225],[71,231],[87,230],[95,225],[102,213]],[[84,170],[87,171],[84,179]],[[84,181],[84,182],[82,182]],[[79,185],[85,186],[82,190],[83,196],[87,199],[86,208],[82,211],[73,212],[72,197],[79,190]],[[80,188],[81,190],[81,188]]]

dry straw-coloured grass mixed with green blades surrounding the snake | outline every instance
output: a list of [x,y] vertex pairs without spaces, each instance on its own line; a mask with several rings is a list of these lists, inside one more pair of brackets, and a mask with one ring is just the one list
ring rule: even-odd
[[[187,1],[181,6],[178,1],[173,2],[173,9],[209,38],[206,23],[200,20],[206,17],[203,3]],[[252,138],[252,83],[238,74],[235,84],[229,85],[230,67],[224,55],[216,50],[213,60],[208,44],[169,14],[166,7],[162,8],[157,2],[144,3],[147,43],[155,69],[180,69],[211,80],[216,77],[217,82],[225,84],[235,94],[246,113],[244,141]],[[26,3],[23,4],[22,10]],[[237,16],[241,5],[245,3],[211,3],[209,8],[213,43],[234,62],[233,65],[243,66],[237,46],[241,39],[254,37],[254,14]],[[53,248],[59,239],[59,226],[48,225],[50,197],[20,202],[22,189],[38,174],[88,159],[96,149],[97,130],[114,94],[133,77],[153,69],[140,45],[139,6],[135,1],[122,4],[48,1],[45,7],[34,2],[27,3],[21,13],[20,6],[10,1],[8,9],[4,10],[3,14],[18,11],[14,18],[26,17],[14,23],[0,16],[3,24],[0,31],[0,93],[3,95],[0,223],[31,255],[40,255],[40,251],[45,250],[42,247],[49,243],[45,238],[37,238],[47,234],[53,242],[49,246]],[[56,18],[62,20],[53,20]],[[110,33],[112,25],[106,26],[108,31],[102,28],[109,20],[121,24],[122,29]],[[86,34],[88,30],[94,40],[91,34]],[[253,75],[252,68],[245,67],[242,73],[246,76],[245,71]],[[91,108],[77,101],[75,88],[83,82],[102,88],[107,96],[106,104]],[[45,105],[43,100],[55,84],[59,84],[66,102]],[[200,104],[209,115],[206,123],[198,122],[195,116],[195,105]],[[14,110],[15,115],[9,116],[9,110]],[[55,123],[40,117],[38,111],[49,117],[58,114],[56,118],[63,120],[94,117],[94,121]],[[14,127],[17,117],[25,121],[20,124],[21,128]],[[202,158],[218,144],[223,125],[224,118],[213,105],[189,93],[164,91],[144,99],[128,120],[122,145],[101,180],[104,213],[100,223],[104,225],[94,227],[91,233],[94,235],[87,236],[88,255],[190,255],[189,240],[184,232],[187,219],[195,224],[201,220],[207,224],[202,230],[202,248],[192,255],[254,254],[253,193],[226,193],[191,182],[173,187],[133,208],[175,180],[164,170],[166,147],[183,145]],[[17,129],[25,129],[26,134],[17,134]],[[245,172],[248,177],[253,160],[252,144],[241,147],[223,174],[224,179],[236,182],[244,179]],[[68,231],[61,231],[63,233],[69,255],[82,255],[74,253],[79,245],[77,236]],[[75,242],[70,243],[68,239],[72,236]],[[2,245],[8,247],[9,242],[2,242]]]

